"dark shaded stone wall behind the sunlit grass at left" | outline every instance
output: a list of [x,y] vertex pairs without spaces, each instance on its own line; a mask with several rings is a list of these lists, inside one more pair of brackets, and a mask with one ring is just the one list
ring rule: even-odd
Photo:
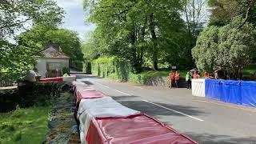
[[23,82],[18,89],[0,90],[0,113],[15,110],[17,105],[22,108],[49,105],[71,87],[71,82]]

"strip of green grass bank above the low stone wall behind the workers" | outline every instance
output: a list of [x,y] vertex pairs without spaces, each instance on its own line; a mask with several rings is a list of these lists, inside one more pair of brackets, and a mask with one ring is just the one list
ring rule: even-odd
[[[175,70],[173,70],[175,73]],[[186,78],[186,70],[178,70],[181,78]],[[141,74],[146,77],[168,77],[170,73],[170,70],[149,70],[144,71]]]

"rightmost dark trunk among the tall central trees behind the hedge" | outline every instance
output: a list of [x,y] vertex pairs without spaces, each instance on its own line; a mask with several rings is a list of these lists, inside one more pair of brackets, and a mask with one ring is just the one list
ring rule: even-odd
[[153,55],[152,55],[152,61],[153,61],[153,70],[158,70],[158,43],[157,43],[157,35],[155,34],[155,25],[154,25],[154,14],[150,14],[150,34],[152,37],[152,41],[154,43],[153,46]]

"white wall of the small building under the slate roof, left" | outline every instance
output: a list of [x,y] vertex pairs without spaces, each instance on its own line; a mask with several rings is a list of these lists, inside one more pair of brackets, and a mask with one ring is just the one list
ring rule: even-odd
[[38,58],[38,64],[35,68],[38,69],[38,74],[41,75],[41,78],[46,76],[46,63],[61,63],[62,68],[67,67],[69,68],[69,59],[68,58]]

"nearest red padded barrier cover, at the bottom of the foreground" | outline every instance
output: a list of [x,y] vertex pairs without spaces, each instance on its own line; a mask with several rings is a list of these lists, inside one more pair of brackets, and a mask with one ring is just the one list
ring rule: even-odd
[[127,118],[93,118],[86,135],[93,143],[196,144],[169,126],[145,114]]

